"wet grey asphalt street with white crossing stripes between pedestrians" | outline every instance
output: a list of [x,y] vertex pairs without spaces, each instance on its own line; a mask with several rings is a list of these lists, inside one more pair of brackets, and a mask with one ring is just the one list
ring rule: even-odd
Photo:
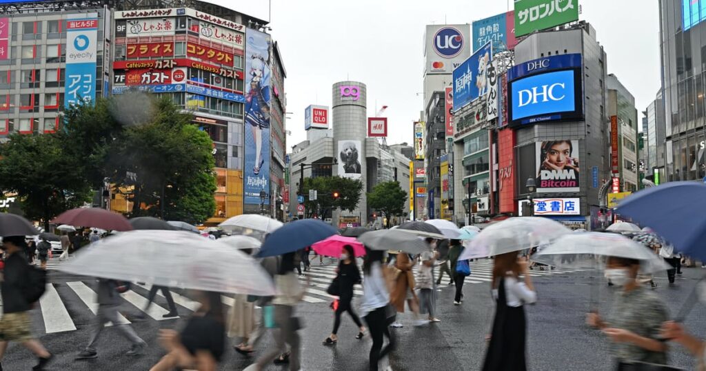
[[[52,262],[50,269],[61,263]],[[444,278],[437,301],[437,317],[441,323],[416,328],[412,326],[411,315],[404,314],[402,329],[395,329],[399,346],[390,357],[393,370],[478,370],[484,358],[484,336],[489,331],[493,315],[493,303],[489,295],[489,260],[472,263],[472,275],[464,286],[465,302],[462,306],[453,305],[453,288],[446,285]],[[333,278],[335,265],[325,259],[319,266],[313,261],[309,277],[311,286],[298,308],[298,315],[304,319],[306,328],[300,331],[303,343],[303,370],[365,370],[370,349],[369,336],[358,341],[354,324],[346,315],[339,331],[340,341],[333,348],[321,342],[330,333],[333,314],[328,308],[329,300],[325,288]],[[669,287],[666,273],[655,278],[657,293],[666,300],[671,315],[678,312],[690,289],[705,270],[685,268],[676,285]],[[107,328],[98,342],[98,358],[74,360],[88,341],[90,326],[95,315],[87,304],[95,300],[92,293],[92,280],[70,276],[59,271],[50,271],[53,288],[47,290],[39,308],[32,311],[33,329],[40,334],[45,346],[54,353],[50,370],[148,370],[164,354],[157,340],[158,329],[178,328],[183,319],[164,319],[166,312],[164,298],[157,298],[147,319],[134,318],[139,314],[146,300],[148,290],[134,287],[124,294],[121,312],[130,326],[149,343],[146,354],[131,358],[124,353],[129,344],[124,338]],[[568,271],[562,269],[532,271],[539,301],[527,306],[528,322],[528,362],[532,370],[609,370],[611,358],[609,344],[598,331],[584,324],[585,312],[589,307],[590,283],[600,283],[600,294],[604,304],[602,311],[608,310],[611,295],[616,288],[608,288],[604,278],[592,278],[590,271]],[[305,278],[302,278],[304,280]],[[357,288],[358,290],[358,288]],[[179,290],[173,290],[180,293]],[[359,293],[356,293],[358,296]],[[191,313],[193,302],[184,296],[176,296],[179,312],[184,317]],[[228,300],[224,300],[228,305]],[[357,299],[354,300],[357,306]],[[193,308],[193,307],[192,307]],[[66,314],[62,316],[62,313]],[[152,319],[150,316],[159,318]],[[68,316],[68,317],[66,317]],[[51,318],[51,319],[50,319]],[[706,308],[696,305],[686,319],[686,326],[694,334],[706,334]],[[75,326],[76,329],[65,329]],[[242,370],[251,360],[232,350],[234,340],[228,346],[220,370]],[[265,348],[272,346],[270,335],[265,335],[258,345],[254,357]],[[254,359],[254,358],[253,358]],[[693,368],[689,355],[677,346],[671,347],[669,360],[672,365]],[[35,363],[30,353],[16,343],[11,344],[3,361],[5,370],[27,370]],[[267,370],[285,370],[285,367],[270,365]]]

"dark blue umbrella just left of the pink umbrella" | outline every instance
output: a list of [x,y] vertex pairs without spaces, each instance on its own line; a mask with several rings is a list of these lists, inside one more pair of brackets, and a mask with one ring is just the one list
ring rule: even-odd
[[321,220],[295,220],[270,233],[260,247],[258,257],[274,257],[287,254],[287,252],[295,252],[335,234],[337,234],[335,228]]

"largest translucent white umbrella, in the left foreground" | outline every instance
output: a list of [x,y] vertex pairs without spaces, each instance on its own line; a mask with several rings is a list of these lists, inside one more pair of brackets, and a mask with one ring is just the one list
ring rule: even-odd
[[273,295],[258,262],[220,242],[177,230],[133,230],[81,249],[61,270],[220,293]]

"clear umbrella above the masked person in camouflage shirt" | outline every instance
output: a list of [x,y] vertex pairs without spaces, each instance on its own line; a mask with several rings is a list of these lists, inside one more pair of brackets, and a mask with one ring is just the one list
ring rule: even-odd
[[637,259],[640,271],[653,273],[670,269],[664,259],[638,242],[617,233],[583,232],[558,237],[537,252],[532,260],[551,266],[601,268],[606,257]]

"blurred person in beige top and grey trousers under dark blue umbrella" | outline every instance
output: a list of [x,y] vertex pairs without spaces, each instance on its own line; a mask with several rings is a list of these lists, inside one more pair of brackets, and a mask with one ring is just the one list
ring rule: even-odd
[[299,370],[301,348],[297,331],[301,328],[301,323],[298,317],[294,317],[294,307],[301,298],[304,298],[304,289],[294,274],[296,255],[297,252],[282,255],[280,269],[275,276],[277,295],[272,302],[275,307],[275,323],[280,327],[275,334],[276,346],[261,355],[256,363],[246,367],[245,371],[261,371],[265,365],[284,353],[287,345],[289,345],[289,370]]

